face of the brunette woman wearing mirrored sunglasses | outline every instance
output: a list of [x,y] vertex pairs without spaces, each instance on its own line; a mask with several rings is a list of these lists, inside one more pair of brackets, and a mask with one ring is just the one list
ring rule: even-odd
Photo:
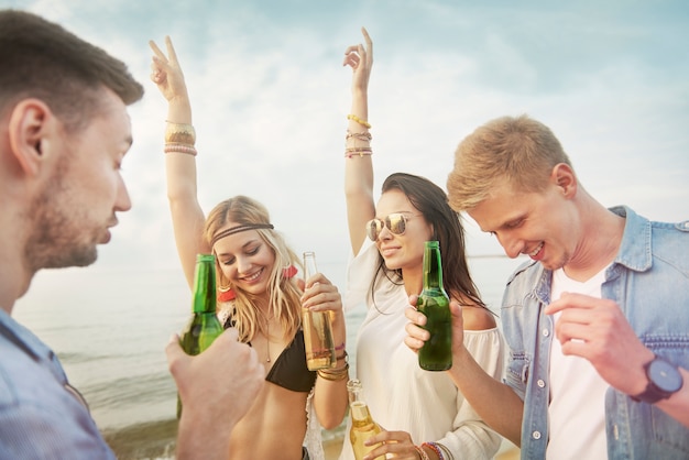
[[433,230],[404,193],[391,189],[381,195],[375,217],[384,220],[393,212],[407,217],[403,234],[394,234],[387,227],[383,228],[375,240],[375,245],[390,270],[422,270],[424,261],[424,243],[431,239]]

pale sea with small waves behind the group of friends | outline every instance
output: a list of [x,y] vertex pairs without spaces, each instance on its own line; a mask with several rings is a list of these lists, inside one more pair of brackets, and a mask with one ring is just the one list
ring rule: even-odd
[[[504,256],[470,258],[471,274],[494,311],[520,263]],[[319,269],[343,292],[344,262],[319,261]],[[352,358],[363,313],[347,315]],[[111,270],[98,263],[40,272],[13,310],[18,321],[57,353],[120,460],[174,456],[176,388],[164,348],[189,315],[190,293],[179,270]],[[343,426],[324,431],[324,439],[341,436]]]

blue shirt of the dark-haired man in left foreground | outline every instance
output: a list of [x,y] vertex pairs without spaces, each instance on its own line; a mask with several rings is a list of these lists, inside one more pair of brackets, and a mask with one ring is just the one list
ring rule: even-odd
[[0,459],[114,459],[55,353],[2,309]]

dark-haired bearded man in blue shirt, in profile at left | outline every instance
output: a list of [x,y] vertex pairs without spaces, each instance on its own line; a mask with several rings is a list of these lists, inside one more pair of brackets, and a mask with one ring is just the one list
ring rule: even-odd
[[[11,313],[39,270],[94,263],[130,209],[120,165],[143,88],[102,50],[15,10],[0,11],[0,458],[114,458],[55,353]],[[226,458],[263,382],[255,352],[231,330],[198,357],[176,337],[166,352],[185,407],[177,456]]]

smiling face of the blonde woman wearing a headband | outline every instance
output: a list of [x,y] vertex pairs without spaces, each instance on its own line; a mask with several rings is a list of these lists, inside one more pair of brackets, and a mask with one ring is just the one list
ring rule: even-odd
[[[228,222],[220,231],[237,227]],[[232,287],[255,296],[267,296],[275,253],[259,231],[247,230],[221,238],[214,245],[222,275]]]

